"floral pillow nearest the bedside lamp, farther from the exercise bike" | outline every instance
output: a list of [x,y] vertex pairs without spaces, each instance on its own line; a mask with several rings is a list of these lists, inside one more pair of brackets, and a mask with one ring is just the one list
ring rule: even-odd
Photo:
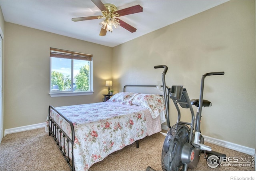
[[134,92],[118,92],[114,96],[112,96],[108,102],[117,102],[123,105],[131,105],[132,99],[138,93]]

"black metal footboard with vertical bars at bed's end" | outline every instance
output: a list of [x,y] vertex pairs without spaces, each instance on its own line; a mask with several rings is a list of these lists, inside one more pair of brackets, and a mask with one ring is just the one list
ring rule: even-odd
[[[71,138],[60,128],[60,126],[54,121],[54,119],[50,116],[50,111],[54,110],[57,112],[64,120],[66,120],[70,124],[71,129]],[[54,138],[56,144],[58,145],[60,151],[62,152],[62,155],[64,156],[66,162],[68,163],[68,166],[71,168],[71,170],[75,170],[74,166],[74,140],[75,140],[75,134],[74,134],[74,126],[70,120],[68,120],[65,116],[63,116],[60,112],[58,112],[53,106],[49,106],[49,136],[52,135]],[[66,142],[65,142],[66,141]],[[67,145],[67,147],[65,147]],[[62,147],[63,146],[63,147]],[[71,152],[69,150],[71,146]],[[70,155],[72,159],[70,159]]]

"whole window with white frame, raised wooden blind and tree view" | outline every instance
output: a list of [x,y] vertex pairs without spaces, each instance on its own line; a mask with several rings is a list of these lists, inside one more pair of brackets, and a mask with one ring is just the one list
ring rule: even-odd
[[92,92],[92,55],[50,48],[50,96]]

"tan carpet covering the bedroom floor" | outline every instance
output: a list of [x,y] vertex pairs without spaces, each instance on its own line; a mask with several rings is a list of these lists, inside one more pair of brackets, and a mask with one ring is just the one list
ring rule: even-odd
[[[161,133],[147,136],[136,143],[124,147],[101,162],[92,165],[89,171],[145,171],[148,166],[162,171],[162,146],[165,136]],[[212,150],[242,158],[248,154],[205,143]],[[1,171],[70,171],[70,168],[52,136],[44,128],[7,134],[0,144]],[[189,169],[190,170],[190,169]],[[204,156],[200,157],[198,167],[193,171],[252,171],[252,166],[221,166],[210,168]]]

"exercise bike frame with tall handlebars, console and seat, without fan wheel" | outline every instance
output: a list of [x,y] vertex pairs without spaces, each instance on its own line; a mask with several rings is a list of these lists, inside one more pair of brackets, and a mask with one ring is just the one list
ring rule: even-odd
[[[169,109],[169,100],[166,99],[167,92],[166,92],[166,85],[165,85],[165,74],[168,68],[166,65],[154,66],[154,68],[164,68],[164,72],[162,74],[162,82],[163,82],[164,97],[165,97],[164,100],[166,104],[166,109]],[[188,167],[190,168],[197,167],[200,153],[202,150],[204,151],[204,154],[206,153],[209,154],[209,152],[212,152],[211,147],[204,145],[203,144],[204,142],[201,143],[201,141],[203,140],[203,137],[200,132],[200,122],[201,122],[201,115],[202,115],[202,107],[204,104],[204,100],[203,100],[204,79],[207,76],[223,75],[223,74],[224,72],[210,72],[202,75],[201,86],[200,86],[200,99],[199,99],[199,105],[196,112],[196,118],[194,115],[194,110],[192,108],[192,102],[190,102],[190,98],[188,96],[188,92],[186,91],[186,88],[183,88],[183,86],[172,86],[172,88],[168,89],[168,95],[173,100],[176,110],[178,112],[177,124],[186,124],[190,126],[188,142],[186,142],[182,147],[182,154],[181,154],[181,160],[182,160],[182,163],[184,164],[184,168],[183,168],[184,170],[187,170]],[[182,108],[190,109],[191,123],[183,122],[180,120],[180,108],[178,104],[180,104]],[[211,106],[211,103],[208,104],[208,106]],[[168,125],[168,131],[169,131],[171,126],[169,121],[169,112],[167,111],[166,111],[166,118],[167,118],[167,123],[168,123],[167,125]],[[212,152],[212,154],[216,154],[217,156],[226,156],[225,154],[221,154],[218,152]]]

